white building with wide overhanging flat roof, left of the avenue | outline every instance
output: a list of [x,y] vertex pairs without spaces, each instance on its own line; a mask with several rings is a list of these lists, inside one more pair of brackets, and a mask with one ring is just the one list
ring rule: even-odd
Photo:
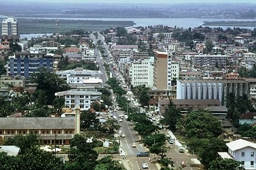
[[70,91],[57,92],[57,97],[65,98],[65,108],[75,109],[75,106],[80,106],[81,111],[90,109],[90,105],[94,101],[100,101],[102,93],[96,91],[79,91],[73,89]]

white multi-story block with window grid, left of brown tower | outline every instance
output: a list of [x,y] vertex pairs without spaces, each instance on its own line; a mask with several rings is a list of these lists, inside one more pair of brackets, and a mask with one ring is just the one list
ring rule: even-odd
[[132,66],[129,69],[132,86],[136,87],[140,85],[146,85],[147,87],[152,87],[153,70],[153,61],[150,61],[149,59],[144,59],[142,61],[132,63]]

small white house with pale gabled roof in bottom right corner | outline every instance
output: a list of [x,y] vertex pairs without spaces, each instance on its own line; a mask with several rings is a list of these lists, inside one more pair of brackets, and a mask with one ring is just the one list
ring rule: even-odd
[[223,159],[234,159],[241,162],[241,167],[245,169],[255,170],[255,154],[256,143],[238,139],[233,142],[226,143],[228,152],[218,152]]

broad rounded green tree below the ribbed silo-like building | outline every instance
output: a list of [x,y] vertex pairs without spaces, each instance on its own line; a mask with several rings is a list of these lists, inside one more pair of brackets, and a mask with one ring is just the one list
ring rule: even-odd
[[192,111],[187,115],[185,129],[189,138],[218,137],[223,132],[220,121],[203,109]]

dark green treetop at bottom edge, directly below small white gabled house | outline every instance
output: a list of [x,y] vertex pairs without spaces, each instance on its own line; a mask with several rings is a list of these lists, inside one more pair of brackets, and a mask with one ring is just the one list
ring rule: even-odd
[[241,162],[235,161],[234,159],[216,159],[209,164],[209,170],[243,170],[240,166]]

